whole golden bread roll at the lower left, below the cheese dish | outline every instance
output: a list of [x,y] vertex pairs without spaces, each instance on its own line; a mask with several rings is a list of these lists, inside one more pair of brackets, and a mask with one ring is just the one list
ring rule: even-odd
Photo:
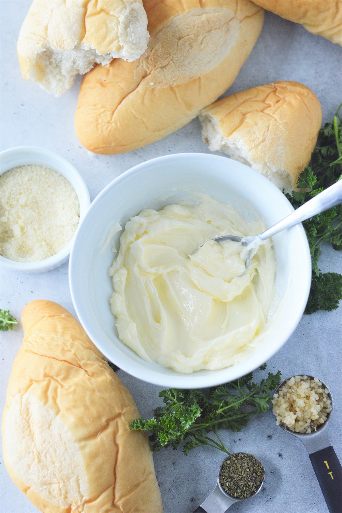
[[46,513],[163,511],[129,391],[62,306],[33,301],[3,416],[6,468]]

